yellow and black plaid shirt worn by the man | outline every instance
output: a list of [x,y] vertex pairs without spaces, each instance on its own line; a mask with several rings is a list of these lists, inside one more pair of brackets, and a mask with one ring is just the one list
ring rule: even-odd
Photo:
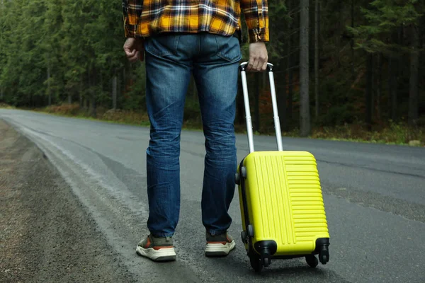
[[123,0],[125,37],[154,33],[233,35],[241,12],[249,42],[268,41],[268,0]]

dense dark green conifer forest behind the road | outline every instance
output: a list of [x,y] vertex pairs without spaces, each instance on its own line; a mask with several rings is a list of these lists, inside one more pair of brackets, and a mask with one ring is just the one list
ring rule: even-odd
[[[0,103],[148,125],[121,1],[0,1]],[[283,134],[425,141],[424,1],[273,0],[268,13]],[[273,134],[268,75],[248,80],[254,132]],[[201,127],[193,82],[184,119]],[[235,127],[246,130],[242,86]]]

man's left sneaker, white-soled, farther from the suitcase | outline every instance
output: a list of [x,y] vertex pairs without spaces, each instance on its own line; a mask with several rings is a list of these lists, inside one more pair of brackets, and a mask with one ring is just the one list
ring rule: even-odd
[[171,237],[157,238],[149,235],[137,244],[136,253],[154,261],[176,260]]

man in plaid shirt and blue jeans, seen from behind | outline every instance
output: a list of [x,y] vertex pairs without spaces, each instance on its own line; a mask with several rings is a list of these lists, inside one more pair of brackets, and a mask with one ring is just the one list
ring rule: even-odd
[[172,236],[180,212],[180,134],[188,83],[198,89],[205,135],[201,200],[205,255],[228,255],[227,234],[237,156],[234,137],[240,13],[249,34],[247,71],[267,67],[267,0],[123,0],[125,54],[146,64],[146,103],[151,123],[147,148],[150,233],[137,254],[175,260]]

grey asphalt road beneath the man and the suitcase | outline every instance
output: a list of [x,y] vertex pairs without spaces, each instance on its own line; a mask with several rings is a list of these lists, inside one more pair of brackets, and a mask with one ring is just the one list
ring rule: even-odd
[[[145,149],[149,129],[0,110],[45,152],[140,282],[425,282],[425,149],[344,141],[284,138],[288,150],[317,158],[331,235],[330,261],[316,269],[304,260],[274,260],[256,275],[239,234],[235,194],[229,233],[237,248],[227,258],[205,258],[200,221],[204,137],[181,136],[181,219],[176,262],[140,258],[135,246],[147,235]],[[254,137],[256,150],[276,148],[274,137]],[[248,153],[237,136],[238,157]],[[90,248],[90,247],[87,247]]]

